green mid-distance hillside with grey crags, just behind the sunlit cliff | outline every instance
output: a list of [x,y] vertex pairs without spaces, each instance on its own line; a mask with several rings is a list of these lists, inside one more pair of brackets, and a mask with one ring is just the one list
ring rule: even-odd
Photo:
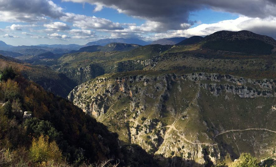
[[154,58],[170,47],[171,45],[146,45],[121,52],[70,53],[61,56],[56,65],[51,67],[81,84],[106,73],[143,69],[149,64],[147,60]]

